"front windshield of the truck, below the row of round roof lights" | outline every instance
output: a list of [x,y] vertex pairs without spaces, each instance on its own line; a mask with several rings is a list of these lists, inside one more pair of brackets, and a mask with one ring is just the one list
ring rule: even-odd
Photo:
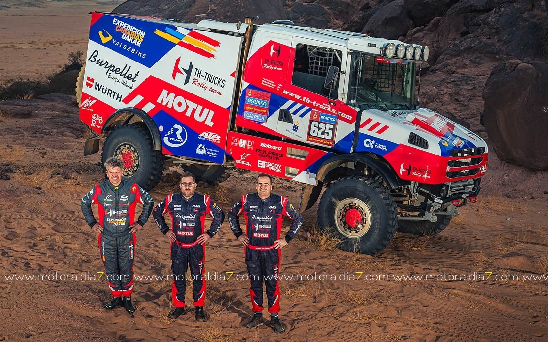
[[383,57],[353,55],[348,104],[359,109],[415,109],[415,65]]

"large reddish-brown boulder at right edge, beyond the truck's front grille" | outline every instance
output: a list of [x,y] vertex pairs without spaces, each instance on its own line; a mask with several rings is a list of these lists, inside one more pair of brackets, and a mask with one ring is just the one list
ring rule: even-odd
[[500,160],[548,170],[548,63],[497,65],[483,90],[482,122]]

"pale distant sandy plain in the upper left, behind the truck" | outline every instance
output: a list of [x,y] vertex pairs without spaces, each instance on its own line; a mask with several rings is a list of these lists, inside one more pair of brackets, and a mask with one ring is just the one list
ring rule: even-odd
[[68,53],[88,46],[90,11],[123,1],[0,1],[0,82],[57,73]]

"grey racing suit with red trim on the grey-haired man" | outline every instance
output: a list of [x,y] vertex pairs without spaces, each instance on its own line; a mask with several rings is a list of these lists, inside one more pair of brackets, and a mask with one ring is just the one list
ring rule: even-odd
[[137,183],[122,179],[118,186],[109,181],[97,184],[82,199],[82,212],[85,222],[93,227],[97,221],[92,212],[92,204],[99,207],[99,234],[101,260],[105,265],[112,297],[131,297],[133,292],[133,258],[135,257],[135,233],[129,226],[135,222],[135,207],[140,202],[142,212],[137,223],[141,226],[149,221],[154,200]]

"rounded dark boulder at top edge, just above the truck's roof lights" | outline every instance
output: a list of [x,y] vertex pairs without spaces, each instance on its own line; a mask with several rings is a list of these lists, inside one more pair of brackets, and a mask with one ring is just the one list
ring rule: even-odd
[[396,0],[384,5],[373,14],[363,28],[362,33],[373,37],[398,39],[405,36],[414,27],[406,10],[403,9],[403,0]]

